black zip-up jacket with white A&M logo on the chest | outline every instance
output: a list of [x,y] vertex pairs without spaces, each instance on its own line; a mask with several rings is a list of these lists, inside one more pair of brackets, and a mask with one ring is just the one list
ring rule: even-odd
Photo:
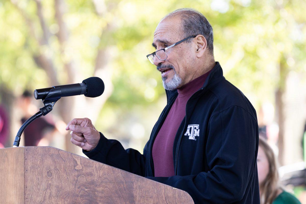
[[203,87],[187,101],[186,116],[173,145],[175,176],[154,177],[152,147],[177,91],[166,91],[167,105],[156,122],[144,154],[101,138],[89,158],[187,191],[195,203],[259,204],[256,111],[228,82],[219,62]]

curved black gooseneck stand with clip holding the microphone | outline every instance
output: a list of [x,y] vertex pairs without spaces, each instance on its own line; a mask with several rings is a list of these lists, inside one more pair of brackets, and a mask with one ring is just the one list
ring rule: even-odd
[[[58,90],[57,90],[58,89]],[[36,93],[34,92],[34,95]],[[37,95],[35,96],[35,98]],[[31,124],[33,121],[35,121],[37,118],[41,116],[45,116],[48,113],[51,112],[53,109],[54,104],[62,97],[61,88],[55,88],[52,92],[50,92],[44,99],[42,99],[44,107],[39,109],[39,112],[35,113],[32,117],[30,117],[27,121],[24,122],[24,124],[21,125],[21,128],[19,128],[17,135],[15,137],[13,147],[19,147],[20,143],[20,137],[22,132],[26,127],[28,127],[29,124]]]

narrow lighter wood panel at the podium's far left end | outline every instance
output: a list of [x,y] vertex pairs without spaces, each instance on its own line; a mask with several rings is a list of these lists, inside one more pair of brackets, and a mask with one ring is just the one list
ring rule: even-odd
[[0,149],[0,203],[24,203],[24,148]]

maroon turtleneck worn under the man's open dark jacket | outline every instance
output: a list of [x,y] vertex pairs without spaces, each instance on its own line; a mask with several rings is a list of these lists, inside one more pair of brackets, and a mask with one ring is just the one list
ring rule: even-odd
[[174,176],[173,143],[177,129],[185,117],[185,108],[188,99],[203,86],[210,72],[199,76],[177,89],[178,96],[153,143],[152,157],[154,162],[154,176]]

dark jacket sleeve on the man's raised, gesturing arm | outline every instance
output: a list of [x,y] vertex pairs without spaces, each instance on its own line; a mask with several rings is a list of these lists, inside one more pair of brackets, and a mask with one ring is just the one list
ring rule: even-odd
[[90,159],[114,166],[116,168],[144,176],[145,175],[145,152],[144,154],[134,149],[124,149],[121,143],[114,139],[106,139],[100,132],[100,140],[93,150],[83,153]]

